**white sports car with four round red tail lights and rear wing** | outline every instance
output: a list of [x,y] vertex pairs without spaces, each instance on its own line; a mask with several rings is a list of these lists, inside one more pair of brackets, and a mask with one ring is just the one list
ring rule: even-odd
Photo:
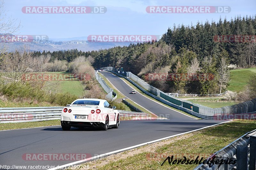
[[118,128],[120,115],[116,106],[110,106],[107,100],[102,99],[77,99],[61,112],[60,122],[63,130],[71,127]]

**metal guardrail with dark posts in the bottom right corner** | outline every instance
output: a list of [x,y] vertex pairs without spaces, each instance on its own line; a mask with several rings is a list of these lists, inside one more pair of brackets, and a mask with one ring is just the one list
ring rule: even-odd
[[[200,164],[194,170],[255,170],[256,169],[256,129],[244,134],[232,143],[228,144],[221,150],[212,154],[208,159],[210,161],[217,161],[222,159],[224,163]],[[248,147],[249,146],[249,147]],[[226,163],[227,160],[232,160],[233,164]],[[236,160],[236,163],[234,163]],[[222,162],[223,162],[222,161]]]

